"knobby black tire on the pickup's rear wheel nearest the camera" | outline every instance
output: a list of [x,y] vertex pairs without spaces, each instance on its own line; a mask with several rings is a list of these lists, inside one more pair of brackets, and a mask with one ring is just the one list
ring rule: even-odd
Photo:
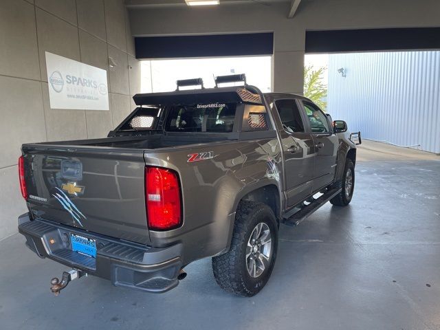
[[[261,225],[261,223],[265,223],[265,225]],[[265,269],[259,276],[252,277],[250,274],[252,270],[248,271],[250,264],[248,263],[249,258],[246,256],[246,249],[248,248],[248,242],[251,240],[251,234],[255,234],[254,229],[257,225],[264,226],[263,228],[266,228],[267,225],[270,231],[265,231],[264,240],[267,241],[270,235],[272,245],[270,245],[271,250],[268,260],[264,259],[267,260]],[[263,239],[261,239],[261,243],[263,243]],[[254,296],[263,289],[270,278],[270,274],[272,274],[277,248],[278,225],[272,209],[264,203],[241,201],[236,210],[230,250],[225,254],[221,254],[221,256],[212,258],[212,271],[214,272],[215,281],[227,292],[232,292],[238,296]],[[263,254],[263,250],[261,251]],[[259,255],[260,250],[258,251]],[[259,258],[258,256],[254,258],[254,264]],[[252,256],[250,256],[250,259],[252,259]],[[252,262],[252,260],[250,261]],[[255,267],[250,268],[255,271]]]

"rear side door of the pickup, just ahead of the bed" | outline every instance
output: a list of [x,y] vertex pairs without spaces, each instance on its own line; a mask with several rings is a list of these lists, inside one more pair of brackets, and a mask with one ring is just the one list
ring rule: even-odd
[[311,194],[315,166],[314,140],[310,133],[306,133],[297,100],[278,99],[274,104],[277,110],[274,112],[281,120],[276,122],[283,148],[285,194],[289,208]]

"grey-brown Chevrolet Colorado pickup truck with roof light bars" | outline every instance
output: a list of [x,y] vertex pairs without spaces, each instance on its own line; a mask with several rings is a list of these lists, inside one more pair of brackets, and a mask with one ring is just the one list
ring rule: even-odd
[[[210,256],[220,287],[253,296],[270,277],[282,224],[327,201],[350,203],[356,148],[347,124],[244,79],[137,94],[137,108],[102,139],[23,144],[29,212],[19,232],[41,258],[72,268],[52,279],[52,292],[84,274],[166,292],[186,265]],[[219,87],[234,80],[244,83]]]

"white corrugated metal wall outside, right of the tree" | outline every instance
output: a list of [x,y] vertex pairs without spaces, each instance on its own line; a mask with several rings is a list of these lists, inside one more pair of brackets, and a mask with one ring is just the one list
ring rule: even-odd
[[330,54],[327,101],[349,131],[440,153],[438,51]]

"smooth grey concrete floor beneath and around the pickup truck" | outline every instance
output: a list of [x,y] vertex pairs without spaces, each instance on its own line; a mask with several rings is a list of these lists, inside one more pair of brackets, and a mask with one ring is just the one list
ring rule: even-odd
[[[362,153],[362,151],[360,151]],[[0,242],[1,329],[440,329],[440,162],[359,162],[347,208],[281,226],[278,259],[253,298],[223,292],[210,259],[166,294],[81,278],[61,296],[15,234]]]

